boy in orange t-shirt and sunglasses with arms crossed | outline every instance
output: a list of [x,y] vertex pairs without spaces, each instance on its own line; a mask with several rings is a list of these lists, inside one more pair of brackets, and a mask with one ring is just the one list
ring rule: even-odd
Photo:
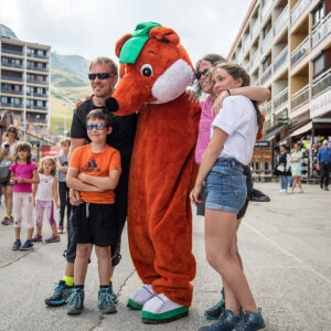
[[72,224],[77,233],[77,255],[74,265],[75,286],[67,301],[67,313],[84,309],[84,282],[93,245],[98,259],[100,289],[98,307],[103,313],[116,312],[111,299],[110,245],[116,242],[115,193],[121,173],[119,152],[106,143],[111,132],[111,118],[103,109],[86,117],[90,143],[77,148],[70,162],[66,183],[81,192],[82,203],[73,205]]

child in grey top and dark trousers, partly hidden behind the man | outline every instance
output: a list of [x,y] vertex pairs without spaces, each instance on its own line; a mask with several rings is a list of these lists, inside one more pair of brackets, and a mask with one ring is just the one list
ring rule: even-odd
[[66,224],[70,220],[71,215],[71,202],[70,202],[70,189],[66,185],[66,172],[67,172],[67,154],[71,147],[71,139],[65,138],[60,141],[60,146],[62,149],[61,156],[56,157],[56,167],[58,171],[58,195],[60,195],[60,222],[58,222],[58,233],[63,233],[63,220],[66,207]]

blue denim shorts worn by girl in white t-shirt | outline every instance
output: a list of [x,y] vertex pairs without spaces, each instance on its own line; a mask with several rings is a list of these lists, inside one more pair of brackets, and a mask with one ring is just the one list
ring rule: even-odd
[[237,214],[247,196],[244,166],[232,158],[220,158],[206,177],[205,207]]

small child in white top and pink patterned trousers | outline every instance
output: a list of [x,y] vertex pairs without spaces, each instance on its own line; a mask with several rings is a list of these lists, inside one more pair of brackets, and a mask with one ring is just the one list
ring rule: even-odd
[[33,184],[33,204],[35,206],[35,220],[36,220],[36,235],[32,242],[42,242],[42,226],[44,213],[52,227],[52,236],[45,239],[46,243],[60,242],[60,235],[57,234],[56,222],[54,218],[54,202],[58,209],[58,194],[57,194],[57,178],[56,163],[51,157],[42,158],[38,169],[39,184]]

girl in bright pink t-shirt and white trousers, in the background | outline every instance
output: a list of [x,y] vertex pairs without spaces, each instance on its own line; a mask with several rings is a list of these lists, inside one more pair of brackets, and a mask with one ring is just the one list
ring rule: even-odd
[[[10,183],[13,184],[13,216],[15,228],[15,242],[12,250],[28,250],[33,248],[32,234],[33,222],[33,197],[32,184],[39,183],[36,164],[31,162],[31,145],[19,142],[15,147],[14,163],[10,166]],[[22,211],[28,221],[28,239],[21,246]]]

